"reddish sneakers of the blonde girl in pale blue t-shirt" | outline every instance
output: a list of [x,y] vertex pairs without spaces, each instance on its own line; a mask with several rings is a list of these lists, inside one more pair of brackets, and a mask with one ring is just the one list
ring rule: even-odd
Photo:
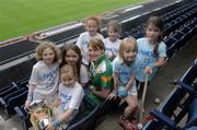
[[125,130],[137,130],[137,121],[136,120],[128,120],[124,116],[119,117],[119,125]]

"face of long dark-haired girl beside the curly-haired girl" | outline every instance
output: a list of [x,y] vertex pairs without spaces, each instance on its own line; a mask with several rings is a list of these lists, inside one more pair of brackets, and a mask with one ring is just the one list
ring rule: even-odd
[[76,63],[77,63],[78,60],[79,60],[79,55],[78,55],[74,50],[70,49],[70,50],[67,51],[67,54],[66,54],[66,56],[65,56],[65,60],[66,60],[69,64],[76,66]]

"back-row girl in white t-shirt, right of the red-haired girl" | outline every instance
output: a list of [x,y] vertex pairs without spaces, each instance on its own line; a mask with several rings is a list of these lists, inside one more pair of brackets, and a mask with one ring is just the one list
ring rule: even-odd
[[120,26],[118,22],[111,21],[107,24],[108,37],[103,40],[105,44],[105,54],[107,55],[109,60],[113,60],[118,52],[119,45],[121,43],[121,40],[118,39],[119,33],[120,33]]

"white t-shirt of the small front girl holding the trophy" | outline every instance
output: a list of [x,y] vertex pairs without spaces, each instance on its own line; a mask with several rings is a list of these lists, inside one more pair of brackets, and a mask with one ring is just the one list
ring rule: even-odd
[[68,108],[79,109],[83,95],[83,88],[78,82],[76,82],[74,86],[72,87],[67,87],[61,83],[59,84],[58,98],[61,101],[60,107],[63,111]]

